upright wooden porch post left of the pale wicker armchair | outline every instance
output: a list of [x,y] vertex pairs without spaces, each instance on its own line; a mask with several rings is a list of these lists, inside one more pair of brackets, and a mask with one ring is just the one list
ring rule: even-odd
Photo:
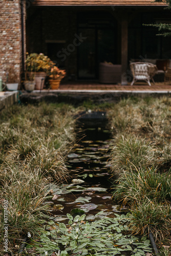
[[[123,15],[124,16],[124,15]],[[128,20],[126,15],[121,19],[121,84],[127,84],[127,48],[128,48]]]

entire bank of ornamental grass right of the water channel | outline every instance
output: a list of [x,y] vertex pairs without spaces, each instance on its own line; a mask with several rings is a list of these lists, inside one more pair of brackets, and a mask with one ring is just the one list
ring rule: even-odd
[[171,100],[128,98],[109,110],[113,199],[128,205],[133,233],[152,230],[157,244],[170,244]]

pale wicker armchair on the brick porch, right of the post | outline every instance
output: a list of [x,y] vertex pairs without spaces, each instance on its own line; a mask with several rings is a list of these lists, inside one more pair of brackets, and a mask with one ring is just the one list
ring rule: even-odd
[[132,62],[130,68],[133,74],[131,86],[138,80],[144,80],[148,83],[148,86],[151,86],[150,80],[152,79],[155,84],[153,77],[157,73],[156,65],[147,62]]

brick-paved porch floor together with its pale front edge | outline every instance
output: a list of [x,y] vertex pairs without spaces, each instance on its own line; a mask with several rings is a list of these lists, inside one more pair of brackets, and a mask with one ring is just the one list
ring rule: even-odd
[[20,95],[22,103],[46,102],[67,102],[71,104],[82,104],[84,101],[91,101],[97,104],[118,102],[120,99],[129,97],[170,97],[171,85],[156,83],[149,87],[145,83],[138,83],[135,86],[121,86],[120,84],[99,84],[87,82],[70,82],[60,85],[59,90],[42,90],[31,93],[23,92]]

